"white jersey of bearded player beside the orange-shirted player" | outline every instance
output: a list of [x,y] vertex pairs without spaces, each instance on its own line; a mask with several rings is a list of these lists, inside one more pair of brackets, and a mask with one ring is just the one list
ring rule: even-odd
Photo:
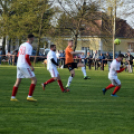
[[47,69],[48,70],[56,68],[56,65],[52,63],[51,59],[54,59],[55,62],[57,63],[56,53],[52,50],[50,50],[47,55]]

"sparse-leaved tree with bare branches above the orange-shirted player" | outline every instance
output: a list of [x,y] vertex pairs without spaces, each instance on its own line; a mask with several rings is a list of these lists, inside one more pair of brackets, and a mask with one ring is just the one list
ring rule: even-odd
[[[74,50],[77,47],[78,38],[80,38],[86,32],[90,35],[98,34],[91,28],[100,28],[97,20],[100,17],[99,5],[93,0],[57,0],[57,35],[73,38],[75,41]],[[59,15],[60,14],[60,15]],[[92,34],[91,34],[92,33]]]

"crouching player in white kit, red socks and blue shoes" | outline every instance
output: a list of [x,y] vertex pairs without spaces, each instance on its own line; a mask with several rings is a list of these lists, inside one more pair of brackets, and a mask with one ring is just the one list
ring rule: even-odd
[[117,73],[121,73],[122,71],[125,70],[124,67],[120,67],[121,66],[121,62],[123,60],[123,57],[124,57],[124,55],[119,54],[118,58],[114,59],[113,62],[111,63],[110,71],[109,71],[109,74],[108,74],[108,78],[111,81],[111,84],[108,87],[106,87],[106,88],[104,88],[102,90],[104,95],[105,95],[107,90],[109,90],[110,88],[115,87],[115,89],[114,89],[114,91],[113,91],[111,96],[118,97],[116,95],[116,93],[121,88],[121,82],[118,79]]

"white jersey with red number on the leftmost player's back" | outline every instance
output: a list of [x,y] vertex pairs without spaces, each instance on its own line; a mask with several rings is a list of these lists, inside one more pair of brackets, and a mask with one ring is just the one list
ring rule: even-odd
[[29,64],[27,63],[25,56],[32,54],[33,47],[28,43],[23,43],[19,48],[18,62],[17,67],[29,68]]

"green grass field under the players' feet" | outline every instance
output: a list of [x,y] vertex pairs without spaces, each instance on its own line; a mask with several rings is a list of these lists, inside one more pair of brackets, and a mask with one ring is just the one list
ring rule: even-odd
[[[64,85],[68,70],[59,70]],[[87,71],[91,80],[84,80],[81,70],[71,85],[71,92],[61,93],[55,82],[43,91],[40,84],[50,78],[45,68],[36,68],[38,83],[34,92],[37,103],[26,101],[30,80],[19,87],[19,102],[10,102],[16,79],[15,67],[0,67],[0,134],[134,134],[134,74],[121,73],[120,97],[109,90],[107,71]]]

